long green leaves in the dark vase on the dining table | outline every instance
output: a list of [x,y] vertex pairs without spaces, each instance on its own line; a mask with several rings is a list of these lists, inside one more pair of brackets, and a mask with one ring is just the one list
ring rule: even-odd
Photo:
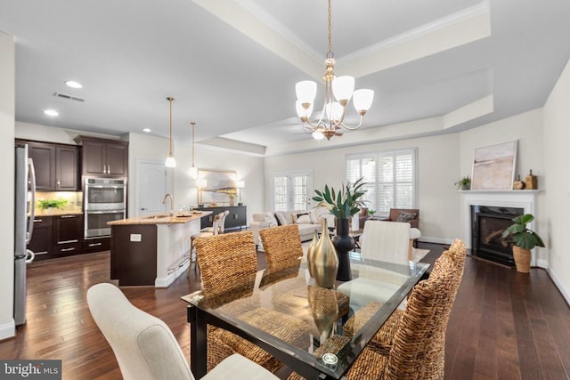
[[354,184],[346,182],[345,185],[343,183],[341,190],[338,191],[335,191],[333,187],[329,188],[329,185],[324,185],[324,191],[314,190],[317,195],[313,197],[313,200],[319,202],[317,206],[327,207],[338,219],[348,219],[358,214],[360,206],[364,205],[359,198],[364,195],[361,189],[365,184],[363,178],[359,178]]

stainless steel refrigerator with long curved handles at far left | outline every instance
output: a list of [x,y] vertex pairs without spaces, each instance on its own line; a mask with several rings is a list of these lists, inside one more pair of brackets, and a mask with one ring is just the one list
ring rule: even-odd
[[36,174],[28,144],[16,146],[14,194],[14,321],[26,323],[26,264],[34,260],[28,242],[34,230]]

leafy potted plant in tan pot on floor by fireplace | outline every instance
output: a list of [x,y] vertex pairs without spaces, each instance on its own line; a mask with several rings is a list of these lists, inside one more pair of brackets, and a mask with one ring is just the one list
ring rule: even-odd
[[509,239],[513,245],[513,256],[517,271],[528,273],[531,263],[531,249],[533,247],[544,247],[541,237],[526,228],[526,224],[533,222],[533,214],[519,215],[512,219],[511,224],[502,234],[503,239]]

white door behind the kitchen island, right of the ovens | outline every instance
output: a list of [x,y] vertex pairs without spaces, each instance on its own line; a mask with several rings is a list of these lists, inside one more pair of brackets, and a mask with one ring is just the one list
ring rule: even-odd
[[167,193],[167,168],[164,162],[139,160],[136,163],[136,216],[163,213],[162,199]]

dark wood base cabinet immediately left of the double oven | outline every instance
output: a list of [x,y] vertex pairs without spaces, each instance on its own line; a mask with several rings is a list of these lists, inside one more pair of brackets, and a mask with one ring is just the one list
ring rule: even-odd
[[83,215],[53,216],[53,255],[75,255],[82,250]]

